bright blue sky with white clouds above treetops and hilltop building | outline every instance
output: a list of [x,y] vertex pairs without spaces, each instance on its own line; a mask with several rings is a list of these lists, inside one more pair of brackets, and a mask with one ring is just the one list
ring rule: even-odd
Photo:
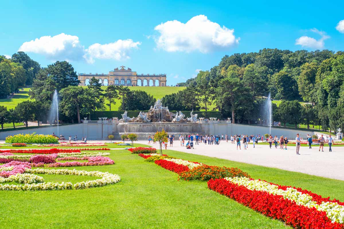
[[0,55],[24,51],[77,73],[121,65],[175,85],[224,55],[344,50],[344,1],[4,1]]

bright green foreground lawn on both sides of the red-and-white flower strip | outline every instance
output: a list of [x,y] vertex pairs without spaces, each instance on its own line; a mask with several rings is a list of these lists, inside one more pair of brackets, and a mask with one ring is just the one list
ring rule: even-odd
[[[1,191],[1,228],[289,228],[208,190],[206,182],[178,181],[176,173],[127,150],[110,152],[114,165],[75,169],[116,173],[121,176],[119,183],[85,190]],[[164,153],[209,165],[238,167],[253,178],[344,199],[344,181],[172,150]],[[44,178],[80,181],[79,176],[72,175]]]

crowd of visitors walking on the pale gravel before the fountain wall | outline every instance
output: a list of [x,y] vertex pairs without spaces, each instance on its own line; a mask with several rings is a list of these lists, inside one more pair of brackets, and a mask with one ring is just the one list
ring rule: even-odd
[[[170,147],[173,147],[173,141],[175,140],[175,135],[168,135],[167,141],[162,143],[162,146],[167,149],[168,144],[170,144]],[[187,149],[194,148],[194,145],[219,145],[221,141],[231,142],[232,144],[236,144],[236,148],[241,150],[241,144],[243,144],[244,150],[248,149],[249,144],[252,142],[253,148],[255,148],[256,144],[259,144],[260,142],[268,142],[270,149],[272,149],[273,146],[275,146],[275,149],[282,149],[287,150],[288,144],[290,143],[287,137],[284,137],[283,135],[278,137],[277,135],[272,136],[269,135],[267,138],[264,137],[264,135],[245,135],[245,134],[237,134],[237,135],[230,135],[227,134],[224,135],[199,135],[199,134],[189,134],[189,135],[179,135],[179,137],[176,139],[179,140],[179,144],[182,147],[186,147]],[[329,145],[329,152],[332,152],[332,144],[333,144],[333,138],[331,135],[326,136],[326,138],[321,135],[319,139],[316,139],[319,143],[319,151],[321,150],[324,152],[324,144],[327,143]],[[296,154],[300,155],[300,145],[301,141],[304,141],[303,138],[300,138],[300,135],[297,134],[295,138],[295,146],[296,146]],[[307,135],[307,141],[309,148],[312,148],[313,144],[313,138],[311,135]],[[148,137],[148,145],[151,143],[156,144],[154,141],[154,136]],[[294,143],[294,142],[293,142]],[[290,144],[289,144],[290,145]]]

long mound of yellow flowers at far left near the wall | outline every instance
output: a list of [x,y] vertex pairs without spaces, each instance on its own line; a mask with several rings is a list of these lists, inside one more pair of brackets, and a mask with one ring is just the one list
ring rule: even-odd
[[8,136],[5,139],[6,143],[53,143],[58,142],[58,138],[52,135],[43,135],[43,134],[16,134],[13,136]]

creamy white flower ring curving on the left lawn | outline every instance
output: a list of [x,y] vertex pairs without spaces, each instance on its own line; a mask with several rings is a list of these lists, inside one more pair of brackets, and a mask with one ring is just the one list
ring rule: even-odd
[[[7,168],[7,167],[4,167]],[[92,181],[82,181],[75,183],[71,182],[61,182],[52,183],[44,182],[41,176],[37,176],[33,173],[38,174],[62,174],[62,175],[78,175],[78,176],[95,176],[101,177],[101,179]],[[16,184],[0,184],[0,190],[17,190],[17,191],[27,191],[27,190],[66,190],[66,189],[82,189],[91,187],[100,187],[108,184],[115,184],[121,180],[119,175],[111,174],[108,172],[99,171],[84,171],[84,170],[68,170],[68,169],[26,169],[23,174],[11,175],[8,178],[0,178],[0,183],[4,182],[18,182],[24,183],[24,185]]]

